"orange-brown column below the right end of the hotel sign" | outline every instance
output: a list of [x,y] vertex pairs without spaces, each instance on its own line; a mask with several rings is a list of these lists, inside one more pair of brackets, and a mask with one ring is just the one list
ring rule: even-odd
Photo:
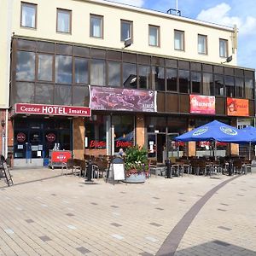
[[84,119],[73,119],[73,157],[84,159]]

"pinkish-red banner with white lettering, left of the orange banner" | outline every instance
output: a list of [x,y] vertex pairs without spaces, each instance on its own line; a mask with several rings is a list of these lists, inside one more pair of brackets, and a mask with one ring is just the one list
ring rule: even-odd
[[190,113],[215,114],[215,96],[190,95]]

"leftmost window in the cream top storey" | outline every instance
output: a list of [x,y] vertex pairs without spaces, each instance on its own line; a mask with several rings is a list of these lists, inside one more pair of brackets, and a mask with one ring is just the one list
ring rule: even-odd
[[20,26],[37,27],[37,4],[21,3]]

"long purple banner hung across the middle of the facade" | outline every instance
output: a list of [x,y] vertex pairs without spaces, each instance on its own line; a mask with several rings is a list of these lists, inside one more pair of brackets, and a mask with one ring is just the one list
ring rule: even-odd
[[93,110],[155,112],[155,93],[154,90],[90,86],[90,108]]

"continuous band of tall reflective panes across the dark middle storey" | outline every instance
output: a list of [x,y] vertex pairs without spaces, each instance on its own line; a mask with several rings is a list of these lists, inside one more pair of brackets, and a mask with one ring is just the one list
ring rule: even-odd
[[253,78],[69,55],[17,51],[17,81],[91,84],[253,98]]

